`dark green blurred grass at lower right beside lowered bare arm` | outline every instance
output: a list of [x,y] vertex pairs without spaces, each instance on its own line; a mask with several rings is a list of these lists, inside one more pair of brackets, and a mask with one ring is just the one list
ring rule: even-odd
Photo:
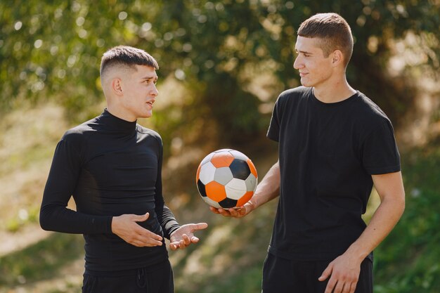
[[377,293],[440,292],[440,149],[403,159],[406,211],[377,249]]

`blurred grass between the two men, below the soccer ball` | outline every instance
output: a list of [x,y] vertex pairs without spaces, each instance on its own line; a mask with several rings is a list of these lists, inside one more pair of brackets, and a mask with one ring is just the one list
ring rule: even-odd
[[[242,219],[214,216],[193,252],[172,263],[179,293],[261,290],[261,268],[271,237],[276,202]],[[188,282],[188,280],[191,280]]]

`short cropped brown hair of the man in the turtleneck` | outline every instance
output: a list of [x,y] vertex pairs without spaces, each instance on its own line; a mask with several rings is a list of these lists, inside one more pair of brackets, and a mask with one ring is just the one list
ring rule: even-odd
[[147,52],[131,46],[115,46],[103,54],[101,58],[101,77],[108,67],[122,65],[134,68],[135,65],[146,65],[159,69],[159,65],[153,56]]

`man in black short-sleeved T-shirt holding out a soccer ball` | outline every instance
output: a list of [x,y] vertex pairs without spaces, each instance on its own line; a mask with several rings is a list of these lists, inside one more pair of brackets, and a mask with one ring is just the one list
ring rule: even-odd
[[[373,249],[405,207],[393,127],[347,82],[353,39],[344,18],[313,15],[295,50],[302,86],[280,94],[267,134],[278,162],[243,207],[211,209],[239,218],[280,195],[262,292],[372,293]],[[381,203],[366,226],[373,185]]]

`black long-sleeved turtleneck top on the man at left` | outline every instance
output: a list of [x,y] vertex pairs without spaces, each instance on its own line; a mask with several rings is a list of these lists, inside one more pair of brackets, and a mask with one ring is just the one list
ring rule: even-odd
[[[84,235],[88,271],[121,271],[167,259],[165,245],[135,247],[112,233],[113,216],[145,214],[144,228],[169,238],[179,228],[162,197],[162,139],[107,110],[58,143],[40,211],[44,230]],[[73,196],[77,211],[67,208]]]

